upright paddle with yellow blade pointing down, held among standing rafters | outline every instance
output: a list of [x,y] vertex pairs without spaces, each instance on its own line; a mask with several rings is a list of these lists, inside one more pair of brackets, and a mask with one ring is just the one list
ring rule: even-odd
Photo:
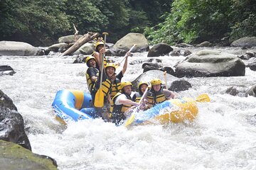
[[[106,37],[108,33],[102,33],[104,35],[104,49],[106,47]],[[94,105],[97,108],[102,108],[104,106],[104,93],[102,91],[102,74],[103,74],[103,67],[104,67],[104,57],[105,57],[105,52],[102,55],[102,63],[100,67],[100,88],[97,90],[95,94],[95,102]]]

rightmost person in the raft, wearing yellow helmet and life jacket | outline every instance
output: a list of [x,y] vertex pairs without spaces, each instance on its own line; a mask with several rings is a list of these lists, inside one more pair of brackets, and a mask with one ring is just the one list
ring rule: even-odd
[[147,92],[146,100],[148,107],[155,106],[171,98],[176,98],[176,95],[167,89],[164,89],[161,79],[152,79],[150,81],[151,89]]

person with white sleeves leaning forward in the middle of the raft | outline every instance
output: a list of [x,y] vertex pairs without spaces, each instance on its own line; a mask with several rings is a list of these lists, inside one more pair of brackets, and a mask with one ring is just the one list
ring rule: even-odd
[[116,125],[126,118],[125,112],[133,109],[133,106],[139,106],[140,103],[132,101],[135,92],[132,91],[132,83],[129,81],[122,82],[122,92],[117,93],[114,98],[114,105],[110,108],[110,119]]

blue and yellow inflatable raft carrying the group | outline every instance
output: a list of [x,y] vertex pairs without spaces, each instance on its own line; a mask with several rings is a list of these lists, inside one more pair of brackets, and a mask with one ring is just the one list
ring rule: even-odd
[[[95,118],[92,98],[85,91],[61,90],[55,95],[53,110],[60,120],[84,120]],[[193,98],[176,98],[164,101],[146,111],[134,113],[132,125],[145,123],[181,123],[192,121],[198,114],[198,107]],[[127,119],[129,120],[129,118]]]

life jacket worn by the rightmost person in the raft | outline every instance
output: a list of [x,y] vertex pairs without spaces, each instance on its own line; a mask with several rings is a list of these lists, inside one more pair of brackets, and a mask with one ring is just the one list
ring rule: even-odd
[[154,89],[150,89],[146,98],[149,104],[153,106],[166,101],[166,96],[163,93],[163,87],[161,87],[159,91],[154,91]]

